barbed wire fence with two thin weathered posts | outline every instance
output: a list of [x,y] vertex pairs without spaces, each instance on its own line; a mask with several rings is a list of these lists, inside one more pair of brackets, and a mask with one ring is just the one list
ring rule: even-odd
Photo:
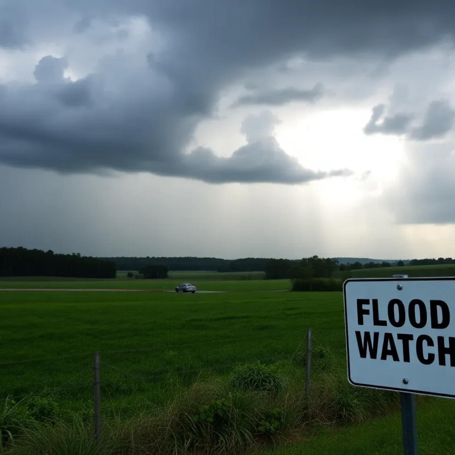
[[[200,377],[204,372],[205,373],[220,373],[226,372],[229,369],[233,369],[240,364],[246,363],[245,361],[241,362],[238,359],[232,361],[219,361],[215,367],[213,366],[198,366],[195,367],[192,364],[187,365],[166,365],[167,371],[163,372],[162,369],[152,369],[148,368],[146,372],[137,372],[132,369],[131,366],[118,366],[114,365],[114,361],[111,361],[109,357],[115,354],[144,354],[152,353],[158,349],[166,348],[166,352],[172,353],[175,349],[182,348],[191,348],[196,346],[207,346],[207,344],[228,344],[228,343],[238,343],[246,340],[269,340],[269,337],[259,338],[257,336],[241,337],[241,338],[229,338],[229,339],[216,339],[208,340],[200,343],[183,343],[183,344],[166,344],[158,343],[154,344],[153,347],[143,348],[143,349],[117,349],[117,350],[100,350],[100,351],[85,351],[80,353],[72,354],[63,354],[59,356],[50,356],[50,357],[39,357],[34,359],[19,359],[7,362],[0,362],[0,371],[5,369],[5,367],[14,367],[20,364],[36,364],[39,362],[51,362],[51,361],[66,361],[69,359],[82,358],[83,366],[77,370],[75,374],[72,374],[69,379],[59,384],[56,387],[52,387],[49,390],[47,387],[39,389],[32,393],[20,393],[20,394],[7,394],[6,399],[8,400],[19,400],[14,402],[13,408],[19,406],[21,403],[25,403],[33,398],[50,398],[50,397],[61,397],[61,394],[67,392],[74,392],[76,389],[79,391],[84,391],[86,395],[89,393],[92,395],[92,411],[93,411],[93,428],[94,428],[94,438],[97,443],[101,442],[101,401],[102,394],[105,394],[106,399],[113,402],[114,397],[117,395],[115,382],[121,378],[122,380],[131,381],[131,386],[125,387],[126,392],[131,391],[135,393],[138,389],[141,390],[145,384],[149,386],[156,384],[157,382],[167,382],[169,380],[171,391],[173,391],[173,384],[177,384],[180,378],[180,383],[184,383],[186,380],[194,380],[197,377]],[[288,360],[296,361],[296,356],[303,353],[304,349],[304,366],[305,366],[305,394],[309,396],[310,391],[310,368],[311,368],[311,340],[312,340],[312,331],[311,329],[307,330],[307,334],[301,341],[298,343],[297,348],[290,356],[286,356]],[[107,360],[105,358],[108,357]],[[86,359],[84,359],[86,358]],[[90,359],[90,360],[89,360]],[[275,357],[268,359],[261,359],[262,362],[272,364],[278,360],[283,360],[283,357]],[[302,365],[303,366],[303,365]],[[106,373],[107,372],[107,375]],[[112,374],[110,374],[112,373]],[[82,382],[80,380],[82,379]],[[139,384],[139,386],[138,386]],[[89,392],[92,388],[91,392]],[[113,389],[113,390],[112,390]],[[101,393],[102,392],[102,393]],[[125,393],[125,390],[121,392]],[[1,398],[1,397],[0,397]],[[5,397],[3,397],[5,398]]]

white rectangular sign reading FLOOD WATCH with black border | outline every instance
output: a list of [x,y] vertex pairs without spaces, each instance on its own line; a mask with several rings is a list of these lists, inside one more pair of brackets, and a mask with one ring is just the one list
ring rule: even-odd
[[344,283],[353,385],[455,398],[455,278]]

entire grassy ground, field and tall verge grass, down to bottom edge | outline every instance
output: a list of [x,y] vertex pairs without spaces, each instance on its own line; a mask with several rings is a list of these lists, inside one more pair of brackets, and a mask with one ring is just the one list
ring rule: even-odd
[[[311,403],[303,394],[309,327],[323,348],[313,357]],[[106,454],[171,453],[170,440],[196,444],[192,453],[240,454],[271,443],[277,446],[267,453],[275,455],[399,453],[399,415],[371,420],[396,411],[396,395],[347,384],[341,293],[3,291],[0,333],[0,398],[50,398],[64,419],[19,436],[11,454],[98,453],[90,449],[94,350],[101,355],[103,441],[115,435],[122,444],[106,445]],[[285,378],[278,394],[233,388],[238,366],[257,360]],[[225,400],[234,425],[222,427],[221,441],[211,424],[192,423],[212,399]],[[277,408],[284,414],[270,417]],[[81,427],[67,423],[68,412],[83,419]],[[418,412],[421,453],[452,453],[454,402],[430,399]],[[278,435],[254,433],[264,418],[283,426]],[[238,430],[243,436],[230,439]],[[85,441],[85,449],[47,450],[52,441],[63,444],[61,435],[68,446]],[[179,445],[174,453],[183,451]]]

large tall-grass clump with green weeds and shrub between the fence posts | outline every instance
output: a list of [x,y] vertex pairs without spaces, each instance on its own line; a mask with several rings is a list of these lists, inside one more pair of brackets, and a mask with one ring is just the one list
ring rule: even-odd
[[259,365],[198,381],[154,415],[124,425],[117,433],[125,453],[244,454],[280,440],[301,419],[304,388],[291,387],[278,366]]

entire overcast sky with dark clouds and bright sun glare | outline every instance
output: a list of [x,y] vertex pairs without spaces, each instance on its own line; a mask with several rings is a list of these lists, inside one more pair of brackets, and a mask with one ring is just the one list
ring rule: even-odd
[[0,0],[0,246],[455,256],[452,0]]

